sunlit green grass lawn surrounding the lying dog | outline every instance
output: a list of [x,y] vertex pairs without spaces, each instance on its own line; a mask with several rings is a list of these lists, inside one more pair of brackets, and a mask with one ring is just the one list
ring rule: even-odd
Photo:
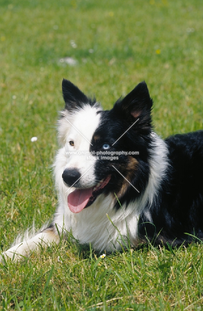
[[[55,210],[63,77],[106,109],[145,80],[159,135],[203,128],[202,12],[199,0],[1,0],[2,249]],[[69,237],[0,266],[0,310],[202,310],[202,254],[149,246],[99,261]]]

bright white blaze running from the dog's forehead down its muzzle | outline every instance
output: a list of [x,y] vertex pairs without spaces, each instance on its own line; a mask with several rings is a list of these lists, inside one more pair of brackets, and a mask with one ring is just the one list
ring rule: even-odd
[[[84,109],[75,113],[72,119],[73,126],[71,126],[66,139],[66,152],[87,153],[90,151],[90,142],[99,125],[100,114],[97,114],[97,111],[98,108],[85,105]],[[70,141],[74,142],[74,146],[70,145]],[[76,168],[81,175],[84,174],[79,180],[80,186],[84,188],[93,187],[97,183],[94,176],[94,164],[96,160],[87,159],[88,157],[90,157],[90,154],[69,154],[67,155],[67,165],[64,167],[64,169]]]

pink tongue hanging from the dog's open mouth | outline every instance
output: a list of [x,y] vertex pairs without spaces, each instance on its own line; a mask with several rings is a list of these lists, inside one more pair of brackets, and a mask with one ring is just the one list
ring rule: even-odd
[[76,189],[68,195],[68,207],[73,213],[79,213],[86,207],[93,188]]

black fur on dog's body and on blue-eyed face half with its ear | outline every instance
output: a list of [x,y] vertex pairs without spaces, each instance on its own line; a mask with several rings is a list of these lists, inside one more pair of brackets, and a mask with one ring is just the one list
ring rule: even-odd
[[[150,150],[153,149],[151,108],[152,99],[147,85],[141,82],[123,100],[119,99],[113,109],[101,112],[101,125],[95,132],[100,140],[96,143],[92,141],[91,151],[100,150],[104,143],[112,146],[135,122],[136,118],[132,113],[139,118],[138,123],[110,149],[139,150],[139,155],[132,156],[139,165],[135,171],[129,173],[130,182],[139,189],[139,193],[129,186],[125,194],[119,197],[121,205],[126,203],[127,206],[146,190]],[[187,244],[193,237],[186,233],[203,239],[203,131],[171,136],[165,142],[169,150],[169,167],[158,190],[158,199],[150,207],[152,223],[145,217],[144,212],[140,215],[139,237],[142,241],[149,239],[155,244]],[[97,179],[102,179],[107,174],[112,175],[111,181],[104,188],[105,193],[119,193],[123,177],[112,165],[118,167],[126,177],[128,162],[129,157],[125,155],[119,157],[119,163],[117,160],[97,162]],[[119,202],[115,203],[115,207],[120,208]]]

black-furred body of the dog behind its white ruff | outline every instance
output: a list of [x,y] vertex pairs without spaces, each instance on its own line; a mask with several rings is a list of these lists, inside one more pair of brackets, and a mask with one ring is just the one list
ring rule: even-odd
[[167,178],[152,208],[153,224],[141,217],[139,232],[155,244],[187,245],[195,236],[203,239],[203,131],[170,136],[165,142]]

